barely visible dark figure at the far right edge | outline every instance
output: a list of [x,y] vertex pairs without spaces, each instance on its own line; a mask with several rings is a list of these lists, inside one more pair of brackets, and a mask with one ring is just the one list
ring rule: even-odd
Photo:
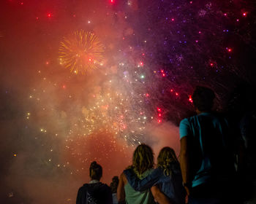
[[[239,149],[242,154],[238,166],[242,199],[246,204],[256,203],[256,90],[243,82],[238,85],[230,98],[228,114],[233,119],[237,132]],[[238,157],[239,158],[239,157]]]

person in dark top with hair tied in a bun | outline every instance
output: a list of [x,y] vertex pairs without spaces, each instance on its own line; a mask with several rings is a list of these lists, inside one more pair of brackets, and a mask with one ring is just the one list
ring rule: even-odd
[[76,204],[112,204],[110,187],[99,182],[102,178],[102,167],[97,162],[91,162],[89,184],[83,184],[78,189]]

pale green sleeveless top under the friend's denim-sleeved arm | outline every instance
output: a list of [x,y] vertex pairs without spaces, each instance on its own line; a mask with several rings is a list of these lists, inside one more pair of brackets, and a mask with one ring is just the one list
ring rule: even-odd
[[[141,176],[138,176],[140,179],[145,178],[148,176],[153,169],[146,170]],[[135,191],[129,183],[124,186],[125,191],[125,201],[128,204],[153,204],[154,203],[154,197],[151,194],[150,189],[146,189],[145,191],[139,192]]]

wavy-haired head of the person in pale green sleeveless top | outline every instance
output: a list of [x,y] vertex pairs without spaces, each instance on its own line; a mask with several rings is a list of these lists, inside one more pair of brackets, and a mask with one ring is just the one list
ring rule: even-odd
[[154,153],[150,146],[140,144],[132,157],[132,166],[138,175],[154,167]]

